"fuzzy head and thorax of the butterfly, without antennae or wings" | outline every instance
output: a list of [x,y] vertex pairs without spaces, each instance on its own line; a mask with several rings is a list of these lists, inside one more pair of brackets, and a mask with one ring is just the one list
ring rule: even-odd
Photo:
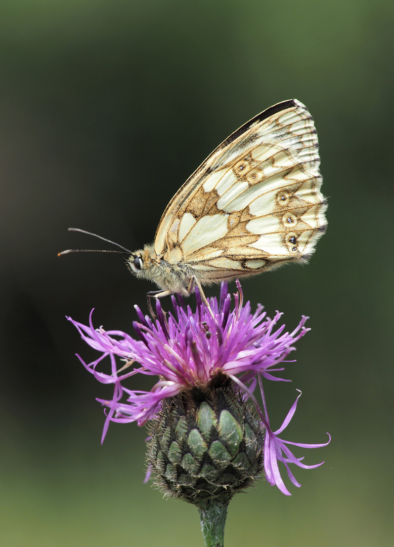
[[156,254],[154,245],[145,245],[132,253],[126,264],[132,274],[153,281],[162,290],[189,296],[187,287],[194,274],[190,266],[183,262],[169,262],[166,255]]

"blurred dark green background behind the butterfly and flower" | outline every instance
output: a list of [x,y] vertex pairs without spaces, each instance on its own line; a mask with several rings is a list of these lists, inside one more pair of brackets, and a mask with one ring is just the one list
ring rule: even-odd
[[[0,2],[1,507],[4,547],[203,544],[196,508],[144,479],[146,431],[109,397],[64,316],[131,331],[149,283],[68,226],[151,242],[180,185],[225,137],[296,97],[321,146],[328,231],[310,264],[243,283],[311,332],[267,388],[301,450],[291,497],[260,481],[230,504],[226,545],[393,544],[393,2]],[[105,245],[104,245],[105,247]],[[217,288],[207,294],[217,294]],[[168,305],[168,302],[167,302]],[[151,383],[138,383],[150,389]],[[289,481],[286,482],[289,484]]]

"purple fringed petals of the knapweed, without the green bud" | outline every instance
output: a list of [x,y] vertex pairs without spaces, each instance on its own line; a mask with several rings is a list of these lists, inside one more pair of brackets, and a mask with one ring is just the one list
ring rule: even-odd
[[[243,396],[253,401],[265,428],[264,470],[268,482],[271,485],[276,484],[283,493],[290,495],[281,479],[278,461],[285,464],[287,474],[296,486],[300,485],[291,474],[288,463],[295,463],[304,468],[317,467],[321,464],[307,466],[300,463],[286,445],[325,445],[290,443],[277,437],[289,424],[296,410],[299,395],[282,426],[272,432],[262,381],[289,381],[278,377],[277,373],[284,370],[283,363],[286,362],[289,353],[295,350],[293,344],[309,330],[304,327],[307,317],[302,317],[292,333],[284,332],[285,325],[278,325],[281,313],[277,312],[275,317],[270,319],[262,311],[262,306],[258,305],[256,312],[252,314],[250,303],[246,302],[243,305],[243,294],[238,281],[237,287],[238,292],[234,295],[235,306],[231,309],[231,296],[228,294],[227,284],[222,283],[219,304],[215,298],[210,300],[212,314],[203,304],[197,289],[195,312],[190,306],[185,305],[180,296],[178,302],[174,296],[172,297],[174,313],[168,313],[168,318],[162,310],[160,301],[156,301],[156,321],[144,316],[136,306],[139,321],[134,322],[133,327],[138,339],[118,330],[105,331],[102,327],[95,329],[92,324],[92,313],[89,326],[68,319],[77,327],[87,344],[102,353],[89,364],[78,356],[81,363],[99,382],[114,385],[113,399],[97,399],[108,409],[105,412],[107,419],[102,440],[110,421],[137,421],[138,425],[142,426],[146,421],[156,419],[165,399],[196,388],[214,390],[224,379],[231,379]],[[125,362],[119,369],[116,365],[116,356]],[[105,357],[110,358],[110,374],[97,370]],[[137,364],[140,366],[136,367]],[[128,377],[138,373],[158,376],[158,381],[151,391],[131,390],[122,385]],[[254,395],[257,384],[262,395],[263,410]],[[122,401],[124,394],[127,398]]]

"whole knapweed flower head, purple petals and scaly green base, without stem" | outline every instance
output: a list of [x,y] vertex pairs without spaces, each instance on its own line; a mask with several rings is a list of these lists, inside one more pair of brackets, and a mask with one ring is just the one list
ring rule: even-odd
[[[317,448],[325,444],[304,444],[278,437],[295,413],[295,403],[283,424],[273,430],[267,412],[263,385],[266,381],[289,381],[279,374],[295,350],[294,344],[309,329],[306,317],[291,333],[279,325],[281,313],[273,319],[262,306],[252,313],[238,292],[231,295],[222,283],[219,303],[210,299],[205,306],[196,289],[197,307],[192,311],[179,296],[172,297],[174,312],[168,316],[156,301],[157,319],[144,316],[136,306],[138,321],[133,323],[137,338],[119,330],[95,329],[69,320],[83,339],[101,355],[93,362],[81,362],[99,382],[114,386],[111,400],[97,399],[106,410],[103,439],[113,422],[149,421],[148,464],[156,484],[168,494],[198,506],[215,498],[228,503],[231,497],[258,478],[262,469],[267,481],[290,495],[279,472],[287,475],[289,463],[305,465],[288,445]],[[110,373],[99,371],[110,359]],[[119,366],[116,358],[123,360]],[[125,387],[137,374],[157,377],[151,391]],[[256,392],[260,391],[261,403]]]

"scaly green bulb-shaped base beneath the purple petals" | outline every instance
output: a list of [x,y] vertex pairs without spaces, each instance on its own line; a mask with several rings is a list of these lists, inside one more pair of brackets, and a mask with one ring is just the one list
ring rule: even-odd
[[197,507],[227,505],[263,468],[263,428],[233,385],[163,400],[150,434],[156,486]]

